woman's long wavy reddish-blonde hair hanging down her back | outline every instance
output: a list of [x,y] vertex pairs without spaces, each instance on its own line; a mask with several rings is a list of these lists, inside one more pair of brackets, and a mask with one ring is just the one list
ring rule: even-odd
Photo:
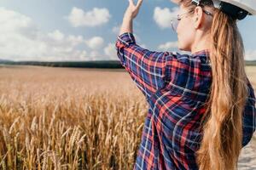
[[[191,0],[180,3],[185,8],[196,7]],[[213,8],[211,0],[201,4]],[[212,84],[201,119],[203,137],[196,161],[200,170],[234,170],[242,147],[242,112],[248,95],[244,46],[237,20],[216,8],[214,12],[209,50]]]

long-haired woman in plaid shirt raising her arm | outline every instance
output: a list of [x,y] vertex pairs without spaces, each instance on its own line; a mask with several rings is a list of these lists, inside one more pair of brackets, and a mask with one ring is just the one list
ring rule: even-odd
[[134,169],[236,169],[256,126],[236,26],[247,11],[216,0],[176,1],[178,48],[192,54],[174,54],[137,45],[132,20],[143,0],[129,2],[115,45],[149,104]]

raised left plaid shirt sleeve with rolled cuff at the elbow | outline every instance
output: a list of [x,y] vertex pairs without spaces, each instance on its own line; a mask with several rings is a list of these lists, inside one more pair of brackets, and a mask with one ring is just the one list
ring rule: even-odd
[[166,65],[172,59],[172,52],[155,52],[136,43],[131,32],[118,36],[115,43],[121,65],[129,72],[132,80],[148,100],[156,90],[165,86]]

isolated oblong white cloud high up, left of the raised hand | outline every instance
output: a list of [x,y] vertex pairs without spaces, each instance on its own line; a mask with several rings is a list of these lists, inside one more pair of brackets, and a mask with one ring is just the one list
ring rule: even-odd
[[73,7],[67,20],[73,27],[79,26],[102,26],[108,23],[111,18],[108,8],[93,8],[91,11],[84,11],[81,8]]

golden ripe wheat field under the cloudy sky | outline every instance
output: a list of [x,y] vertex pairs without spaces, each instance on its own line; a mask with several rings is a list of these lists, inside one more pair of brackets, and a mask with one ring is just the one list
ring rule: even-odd
[[[0,66],[0,169],[132,169],[147,111],[122,69]],[[256,134],[239,169],[255,153]]]

